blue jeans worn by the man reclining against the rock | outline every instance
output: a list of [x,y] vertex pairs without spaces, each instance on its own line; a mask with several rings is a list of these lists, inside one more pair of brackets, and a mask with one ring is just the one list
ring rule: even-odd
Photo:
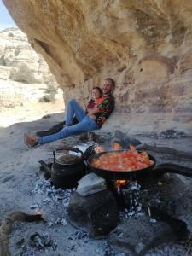
[[[74,115],[78,119],[79,123],[71,125],[73,124]],[[86,115],[84,109],[75,100],[70,100],[68,102],[66,124],[71,126],[66,126],[55,134],[38,137],[38,143],[50,143],[70,135],[77,135],[85,131],[97,130],[100,128],[99,125],[96,124],[95,120],[90,119],[90,117]]]

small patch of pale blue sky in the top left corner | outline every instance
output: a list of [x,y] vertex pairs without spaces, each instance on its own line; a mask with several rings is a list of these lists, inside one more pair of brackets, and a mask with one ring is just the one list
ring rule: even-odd
[[0,0],[0,30],[13,26],[16,26],[15,22],[9,15],[9,12],[4,6],[2,0]]

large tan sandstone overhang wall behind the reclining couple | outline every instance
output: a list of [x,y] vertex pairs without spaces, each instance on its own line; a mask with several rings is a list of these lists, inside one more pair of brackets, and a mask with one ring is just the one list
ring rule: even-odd
[[192,132],[192,3],[188,0],[3,0],[34,49],[82,102],[117,82],[104,129]]

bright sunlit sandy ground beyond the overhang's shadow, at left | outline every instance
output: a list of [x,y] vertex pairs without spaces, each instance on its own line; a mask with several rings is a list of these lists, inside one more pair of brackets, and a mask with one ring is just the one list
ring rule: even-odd
[[[22,84],[0,79],[0,126],[41,119],[49,113],[63,113],[62,91],[51,98],[47,84]],[[44,97],[47,97],[44,100]]]

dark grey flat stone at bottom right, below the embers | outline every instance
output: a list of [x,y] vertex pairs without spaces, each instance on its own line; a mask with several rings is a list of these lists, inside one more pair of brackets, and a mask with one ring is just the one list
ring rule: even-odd
[[148,249],[172,241],[173,237],[168,224],[151,223],[148,216],[138,216],[124,219],[110,233],[109,241],[125,253],[145,255]]

